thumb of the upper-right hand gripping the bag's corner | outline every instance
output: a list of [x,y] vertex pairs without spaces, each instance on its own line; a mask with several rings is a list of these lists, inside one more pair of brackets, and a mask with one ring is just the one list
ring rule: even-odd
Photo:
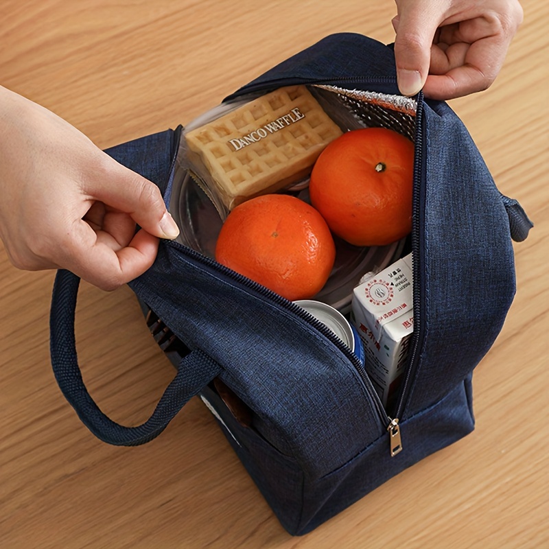
[[397,82],[403,95],[418,93],[429,73],[431,45],[440,21],[427,6],[409,0],[399,2],[398,15],[393,19]]

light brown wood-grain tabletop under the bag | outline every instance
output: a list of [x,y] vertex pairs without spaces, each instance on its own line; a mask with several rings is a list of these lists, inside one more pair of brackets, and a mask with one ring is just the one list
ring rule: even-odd
[[[476,369],[475,432],[290,537],[198,399],[143,447],[95,439],[51,373],[54,272],[16,270],[0,248],[1,548],[549,548],[549,4],[523,7],[495,84],[451,102],[536,225]],[[185,124],[327,34],[390,42],[395,12],[389,0],[3,0],[0,83],[106,148]],[[140,423],[174,371],[132,292],[84,284],[77,318],[91,393]]]

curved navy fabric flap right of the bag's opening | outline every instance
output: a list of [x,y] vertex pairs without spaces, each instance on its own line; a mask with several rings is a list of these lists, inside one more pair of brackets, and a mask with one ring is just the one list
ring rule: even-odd
[[424,338],[405,417],[470,373],[500,333],[515,294],[500,193],[469,133],[445,104],[425,107],[421,250]]

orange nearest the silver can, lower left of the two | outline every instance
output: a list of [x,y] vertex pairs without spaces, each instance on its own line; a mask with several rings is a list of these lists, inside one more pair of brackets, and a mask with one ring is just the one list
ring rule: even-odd
[[292,301],[319,292],[335,258],[334,239],[320,213],[283,194],[235,207],[215,246],[220,264]]

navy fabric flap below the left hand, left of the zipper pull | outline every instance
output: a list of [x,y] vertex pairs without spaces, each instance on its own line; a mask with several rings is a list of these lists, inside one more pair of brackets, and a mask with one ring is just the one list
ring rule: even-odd
[[301,318],[161,242],[132,290],[223,382],[276,426],[305,474],[326,474],[384,432],[358,373]]

